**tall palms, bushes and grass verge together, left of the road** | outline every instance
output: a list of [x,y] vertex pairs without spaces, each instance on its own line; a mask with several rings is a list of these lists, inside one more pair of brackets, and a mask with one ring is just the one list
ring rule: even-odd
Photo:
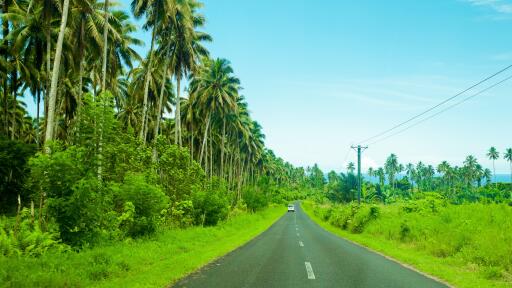
[[304,169],[265,147],[230,62],[203,46],[202,4],[117,7],[0,7],[0,285],[165,286],[305,197]]

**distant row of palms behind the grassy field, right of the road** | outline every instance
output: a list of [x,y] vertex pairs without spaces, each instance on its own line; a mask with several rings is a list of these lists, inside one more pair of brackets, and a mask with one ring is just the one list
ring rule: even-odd
[[[511,151],[507,149],[504,159],[510,162],[509,152]],[[498,159],[495,153],[495,149],[491,148],[490,159]],[[318,168],[315,169],[318,170],[316,174],[322,175]],[[317,199],[328,199],[336,203],[356,200],[358,179],[354,170],[353,163],[349,163],[346,174],[329,172],[323,191],[316,195]],[[511,202],[512,183],[493,181],[493,175],[490,169],[484,169],[471,155],[466,157],[462,167],[452,167],[443,161],[434,168],[421,161],[417,165],[409,163],[404,166],[398,162],[395,154],[391,154],[384,168],[369,168],[368,173],[363,176],[361,199],[367,203],[390,204],[422,198],[424,193],[433,192],[452,204]],[[318,187],[322,185],[319,184]]]

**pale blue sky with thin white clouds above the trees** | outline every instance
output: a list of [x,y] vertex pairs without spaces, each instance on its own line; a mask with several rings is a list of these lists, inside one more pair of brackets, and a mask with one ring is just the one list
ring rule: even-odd
[[[267,146],[295,165],[345,170],[355,161],[347,154],[351,143],[512,64],[512,1],[204,3],[212,56],[232,62]],[[137,36],[146,51],[149,33]],[[435,165],[461,165],[473,154],[491,168],[487,149],[512,147],[511,92],[512,81],[505,82],[370,146],[363,169],[390,153],[403,163]],[[496,163],[499,173],[508,167]]]

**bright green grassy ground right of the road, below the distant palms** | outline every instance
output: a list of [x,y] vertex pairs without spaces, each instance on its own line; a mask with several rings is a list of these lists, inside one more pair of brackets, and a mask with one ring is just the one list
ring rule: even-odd
[[326,230],[456,287],[512,287],[512,207],[505,204],[302,207]]

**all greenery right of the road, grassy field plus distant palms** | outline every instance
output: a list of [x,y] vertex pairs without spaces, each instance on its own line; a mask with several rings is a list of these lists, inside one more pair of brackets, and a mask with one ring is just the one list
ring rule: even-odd
[[[498,155],[489,150],[491,160]],[[319,177],[313,201],[303,203],[321,226],[457,287],[512,285],[512,186],[493,181],[475,157],[434,169],[403,166],[392,154],[368,171],[361,205],[354,165],[347,170]]]

